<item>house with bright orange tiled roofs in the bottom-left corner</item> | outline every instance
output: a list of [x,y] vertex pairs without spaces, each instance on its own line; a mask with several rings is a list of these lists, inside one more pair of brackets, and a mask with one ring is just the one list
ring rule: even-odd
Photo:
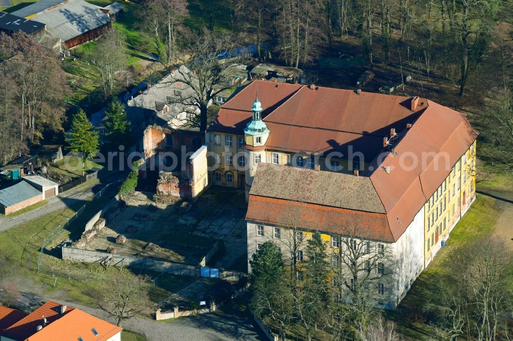
[[0,306],[0,341],[120,341],[122,330],[52,301],[30,314]]

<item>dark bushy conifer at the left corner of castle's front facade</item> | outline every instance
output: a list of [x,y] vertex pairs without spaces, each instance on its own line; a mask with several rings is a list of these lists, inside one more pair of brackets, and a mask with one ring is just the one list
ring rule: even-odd
[[292,319],[292,291],[286,285],[282,254],[273,243],[265,242],[249,263],[251,311],[264,325],[278,325],[281,339],[285,340],[285,327]]

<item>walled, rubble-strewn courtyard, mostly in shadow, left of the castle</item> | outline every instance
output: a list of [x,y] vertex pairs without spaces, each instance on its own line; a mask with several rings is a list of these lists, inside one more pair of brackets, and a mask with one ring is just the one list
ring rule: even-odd
[[[85,248],[198,265],[219,241],[206,265],[246,271],[245,213],[244,195],[236,190],[212,187],[195,202],[171,198],[166,204],[136,191],[123,199],[115,217],[109,219],[106,212],[105,227]],[[120,235],[126,237],[124,244],[116,243]]]

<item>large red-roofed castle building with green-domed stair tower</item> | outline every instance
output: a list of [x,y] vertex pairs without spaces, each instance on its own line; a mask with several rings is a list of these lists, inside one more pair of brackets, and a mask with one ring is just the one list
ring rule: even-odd
[[477,136],[425,98],[257,80],[222,106],[206,142],[211,181],[245,189],[249,271],[267,240],[320,231],[330,252],[359,240],[393,256],[356,265],[378,274],[377,305],[393,309],[475,199]]

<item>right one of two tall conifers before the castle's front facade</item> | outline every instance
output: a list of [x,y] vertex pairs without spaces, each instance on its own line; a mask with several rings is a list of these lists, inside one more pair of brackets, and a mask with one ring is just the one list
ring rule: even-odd
[[304,283],[297,295],[300,321],[305,327],[308,340],[311,340],[312,327],[326,320],[329,302],[329,264],[326,243],[321,233],[314,232],[305,248]]

